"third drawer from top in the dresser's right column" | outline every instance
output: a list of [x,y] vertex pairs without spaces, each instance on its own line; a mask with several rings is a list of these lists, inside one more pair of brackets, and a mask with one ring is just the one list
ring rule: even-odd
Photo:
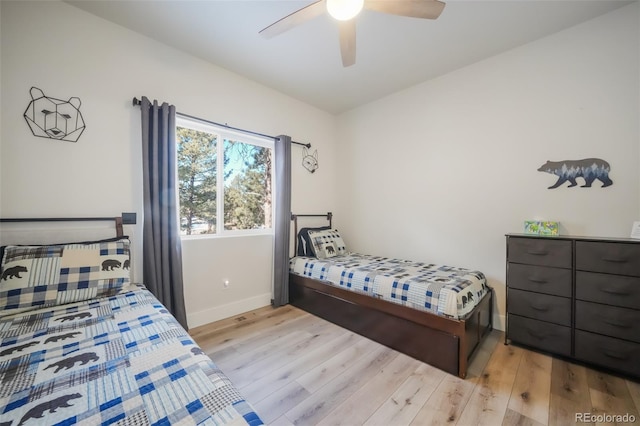
[[578,300],[576,328],[640,343],[640,311]]

